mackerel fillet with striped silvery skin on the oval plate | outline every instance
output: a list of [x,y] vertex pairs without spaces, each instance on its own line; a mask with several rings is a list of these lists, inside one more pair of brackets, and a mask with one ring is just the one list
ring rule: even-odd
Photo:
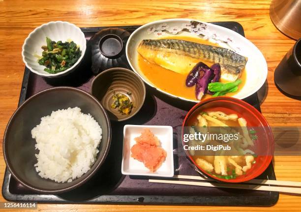
[[235,81],[241,76],[247,58],[222,47],[177,39],[142,40],[138,53],[149,62],[180,74],[188,74],[198,61],[221,66],[221,79]]

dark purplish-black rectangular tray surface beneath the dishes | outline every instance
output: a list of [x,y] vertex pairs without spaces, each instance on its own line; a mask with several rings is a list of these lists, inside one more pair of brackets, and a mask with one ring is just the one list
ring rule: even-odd
[[[244,35],[237,22],[213,23]],[[130,33],[139,26],[118,27]],[[99,28],[82,28],[87,42]],[[72,86],[90,91],[94,75],[91,68],[89,45],[78,71],[62,79],[44,79],[25,68],[19,105],[38,91],[54,86]],[[260,111],[257,93],[244,99]],[[5,170],[2,195],[8,201],[33,201],[44,203],[95,203],[95,204],[152,204],[152,205],[226,205],[226,206],[271,206],[278,200],[278,192],[221,189],[190,185],[151,183],[147,178],[121,174],[122,129],[124,124],[171,125],[174,127],[174,147],[177,146],[177,127],[193,105],[185,103],[147,87],[147,96],[140,112],[132,119],[112,123],[111,148],[105,163],[93,178],[72,191],[59,195],[34,193],[18,183]],[[172,114],[172,116],[171,116]],[[177,147],[176,147],[177,148]],[[184,154],[181,154],[184,155]],[[198,175],[185,156],[174,154],[175,174]],[[258,179],[275,180],[272,164]]]

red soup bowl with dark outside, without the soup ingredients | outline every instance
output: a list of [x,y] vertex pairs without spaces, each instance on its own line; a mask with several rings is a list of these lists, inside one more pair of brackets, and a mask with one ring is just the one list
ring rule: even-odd
[[247,121],[247,127],[254,127],[259,131],[259,133],[257,133],[258,138],[254,140],[253,146],[255,154],[257,154],[255,157],[256,162],[252,164],[251,169],[247,170],[243,175],[236,176],[235,179],[223,179],[203,170],[197,165],[188,150],[184,150],[195,167],[203,174],[222,182],[246,182],[261,175],[271,163],[274,148],[274,138],[271,127],[262,114],[252,105],[233,97],[221,96],[206,99],[191,108],[183,121],[181,134],[183,146],[185,145],[183,142],[184,127],[192,126],[196,121],[197,115],[200,114],[200,112],[206,111],[221,111],[226,114],[235,113],[239,118],[242,117]]

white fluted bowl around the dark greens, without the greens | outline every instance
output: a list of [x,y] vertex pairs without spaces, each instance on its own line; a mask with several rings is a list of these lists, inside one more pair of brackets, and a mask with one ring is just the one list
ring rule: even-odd
[[[81,57],[72,67],[62,72],[50,74],[44,71],[45,66],[40,65],[37,62],[38,59],[34,55],[42,55],[43,50],[41,49],[41,46],[46,45],[46,37],[49,37],[51,40],[56,42],[59,40],[65,42],[68,39],[71,39],[80,46],[80,50],[82,51]],[[43,77],[57,77],[66,75],[67,72],[69,73],[74,70],[84,58],[85,52],[86,38],[80,28],[69,22],[52,21],[47,24],[43,24],[30,32],[22,47],[22,58],[25,65],[33,73]]]

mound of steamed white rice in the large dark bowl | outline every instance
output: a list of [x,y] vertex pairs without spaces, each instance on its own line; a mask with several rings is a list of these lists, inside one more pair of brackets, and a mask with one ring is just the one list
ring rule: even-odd
[[34,164],[39,176],[71,182],[85,174],[96,160],[102,129],[78,107],[53,111],[31,130],[36,140]]

